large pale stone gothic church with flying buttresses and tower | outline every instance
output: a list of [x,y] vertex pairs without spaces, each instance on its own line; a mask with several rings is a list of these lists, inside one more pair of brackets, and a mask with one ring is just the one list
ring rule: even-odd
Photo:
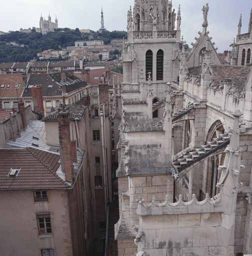
[[209,8],[190,51],[172,1],[135,0],[128,11],[112,94],[119,256],[252,253],[252,12],[223,65]]

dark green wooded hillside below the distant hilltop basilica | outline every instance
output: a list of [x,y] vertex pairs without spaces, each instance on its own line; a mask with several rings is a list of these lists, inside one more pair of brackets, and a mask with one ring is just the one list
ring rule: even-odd
[[[103,31],[101,33],[91,31],[90,33],[81,33],[78,28],[58,28],[55,32],[49,32],[46,35],[31,32],[22,33],[19,31],[0,35],[0,62],[9,61],[29,61],[36,58],[37,52],[46,49],[59,49],[60,47],[73,46],[76,40],[104,40],[109,44],[115,38],[127,38],[125,31]],[[17,43],[13,45],[10,43]],[[23,46],[23,45],[24,46]],[[22,46],[20,46],[22,45]]]

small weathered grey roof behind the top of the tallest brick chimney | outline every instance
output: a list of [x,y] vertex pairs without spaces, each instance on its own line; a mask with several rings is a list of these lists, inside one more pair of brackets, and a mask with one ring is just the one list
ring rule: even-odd
[[[70,120],[81,120],[87,107],[84,105],[69,105],[69,119]],[[57,121],[58,111],[54,111],[46,115],[42,121]]]

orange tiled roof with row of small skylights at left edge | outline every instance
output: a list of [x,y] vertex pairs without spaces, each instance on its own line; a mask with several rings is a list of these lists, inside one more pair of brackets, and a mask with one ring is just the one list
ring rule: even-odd
[[[1,87],[1,85],[5,86]],[[16,85],[19,86],[15,87]],[[22,74],[0,74],[0,95],[2,97],[20,97],[23,89]]]

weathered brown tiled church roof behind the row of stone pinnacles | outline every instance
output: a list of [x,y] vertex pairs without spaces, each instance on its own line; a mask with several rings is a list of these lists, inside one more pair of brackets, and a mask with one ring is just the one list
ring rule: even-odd
[[[195,66],[188,69],[191,74],[201,74],[201,66]],[[214,82],[219,83],[223,79],[230,78],[237,87],[245,87],[248,82],[251,67],[233,66],[233,65],[213,65]]]

